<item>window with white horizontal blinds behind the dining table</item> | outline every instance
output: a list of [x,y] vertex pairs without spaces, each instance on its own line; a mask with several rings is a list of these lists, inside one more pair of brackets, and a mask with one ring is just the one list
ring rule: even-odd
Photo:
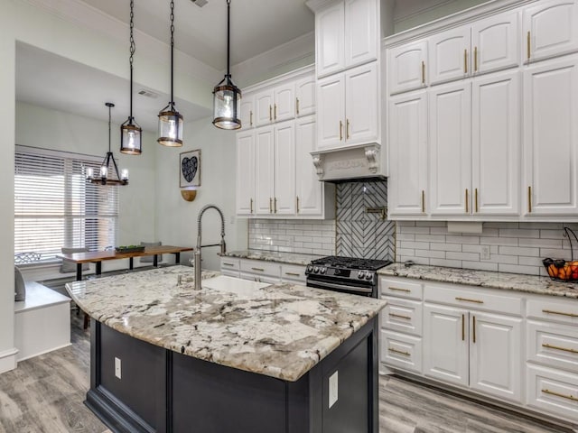
[[61,247],[102,250],[116,244],[118,190],[90,184],[95,157],[16,146],[14,253],[38,253],[40,263],[58,261]]

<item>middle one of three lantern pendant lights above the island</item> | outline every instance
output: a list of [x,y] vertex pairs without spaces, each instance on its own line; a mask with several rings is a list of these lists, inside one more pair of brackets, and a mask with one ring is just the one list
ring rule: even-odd
[[182,115],[174,106],[174,1],[171,0],[171,102],[159,113],[159,138],[156,140],[163,146],[182,146]]

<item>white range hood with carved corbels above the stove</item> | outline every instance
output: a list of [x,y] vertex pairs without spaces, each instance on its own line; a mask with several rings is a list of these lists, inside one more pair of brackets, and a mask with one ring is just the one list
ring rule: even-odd
[[317,176],[324,182],[386,179],[381,146],[377,143],[315,151],[311,156]]

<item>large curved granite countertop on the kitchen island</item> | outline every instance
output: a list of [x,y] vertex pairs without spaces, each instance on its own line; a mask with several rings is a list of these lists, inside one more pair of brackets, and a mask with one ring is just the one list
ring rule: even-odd
[[[179,275],[181,285],[177,285]],[[217,275],[203,272],[203,280]],[[219,279],[231,285],[239,282]],[[290,382],[386,305],[381,299],[290,283],[256,290],[193,290],[192,281],[194,270],[177,265],[74,281],[67,290],[80,309],[119,332],[184,355]]]

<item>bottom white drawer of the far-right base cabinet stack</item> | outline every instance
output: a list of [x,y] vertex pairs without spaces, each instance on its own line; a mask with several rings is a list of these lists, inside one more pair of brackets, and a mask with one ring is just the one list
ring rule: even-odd
[[527,404],[564,419],[578,420],[578,375],[527,367]]

